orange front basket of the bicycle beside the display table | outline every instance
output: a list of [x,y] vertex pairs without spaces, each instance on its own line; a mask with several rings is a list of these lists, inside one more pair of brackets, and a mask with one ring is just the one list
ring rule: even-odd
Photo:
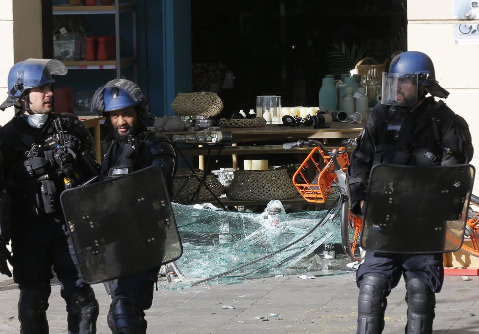
[[[341,147],[339,150],[344,150]],[[319,163],[316,161],[314,155],[319,152],[326,166],[321,169]],[[344,172],[348,169],[349,158],[348,153],[338,155],[338,162],[340,163]],[[305,174],[315,172],[315,178],[309,182]],[[299,182],[297,181],[299,179]],[[328,196],[333,192],[332,185],[336,181],[336,172],[334,170],[332,159],[325,155],[319,147],[315,147],[308,154],[303,163],[299,166],[293,175],[293,184],[298,189],[303,198],[311,203],[324,203]]]

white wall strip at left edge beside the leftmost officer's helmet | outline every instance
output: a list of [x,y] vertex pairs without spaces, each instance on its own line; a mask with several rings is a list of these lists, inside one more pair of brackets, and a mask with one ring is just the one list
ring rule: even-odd
[[[0,1],[0,103],[7,96],[6,79],[13,65],[13,10],[12,1]],[[8,122],[13,116],[13,108],[0,111],[0,125]]]

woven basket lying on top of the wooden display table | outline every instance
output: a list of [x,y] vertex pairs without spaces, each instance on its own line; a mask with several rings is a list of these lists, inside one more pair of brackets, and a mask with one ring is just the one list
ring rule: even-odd
[[216,93],[178,93],[171,109],[181,116],[216,116],[223,110],[223,101]]

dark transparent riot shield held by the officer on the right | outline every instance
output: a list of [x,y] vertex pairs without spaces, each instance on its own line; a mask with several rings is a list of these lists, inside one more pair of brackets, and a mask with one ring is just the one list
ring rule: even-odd
[[445,253],[464,238],[472,165],[377,165],[371,170],[361,246],[387,253]]

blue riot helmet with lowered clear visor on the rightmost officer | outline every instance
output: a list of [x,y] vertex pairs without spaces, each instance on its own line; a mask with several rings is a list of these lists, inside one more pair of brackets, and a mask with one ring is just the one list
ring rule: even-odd
[[418,85],[433,96],[447,98],[449,95],[436,81],[433,61],[426,53],[402,52],[391,61],[389,72],[383,72],[381,103],[414,105],[418,100]]

